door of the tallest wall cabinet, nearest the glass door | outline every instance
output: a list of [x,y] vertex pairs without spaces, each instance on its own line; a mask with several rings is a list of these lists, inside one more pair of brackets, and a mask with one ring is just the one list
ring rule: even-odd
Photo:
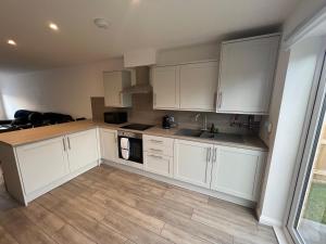
[[268,112],[279,37],[222,44],[217,112]]

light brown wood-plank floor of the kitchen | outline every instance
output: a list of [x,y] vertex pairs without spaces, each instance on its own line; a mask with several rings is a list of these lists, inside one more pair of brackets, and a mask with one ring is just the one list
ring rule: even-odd
[[277,243],[250,209],[108,166],[0,207],[1,244]]

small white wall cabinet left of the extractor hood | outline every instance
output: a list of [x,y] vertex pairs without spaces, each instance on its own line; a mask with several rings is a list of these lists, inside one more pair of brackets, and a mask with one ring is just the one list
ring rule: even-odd
[[124,88],[131,86],[131,74],[128,70],[104,72],[104,101],[105,106],[129,107],[131,94],[122,93]]

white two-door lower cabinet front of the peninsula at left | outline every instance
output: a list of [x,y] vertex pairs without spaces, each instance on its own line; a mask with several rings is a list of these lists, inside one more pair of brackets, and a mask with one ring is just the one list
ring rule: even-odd
[[[15,149],[27,202],[64,183],[99,159],[97,129]],[[79,170],[79,171],[78,171]]]

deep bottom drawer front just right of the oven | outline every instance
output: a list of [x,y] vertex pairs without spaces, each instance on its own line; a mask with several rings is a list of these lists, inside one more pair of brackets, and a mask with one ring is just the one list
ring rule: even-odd
[[166,177],[173,176],[172,157],[149,152],[145,152],[143,157],[145,170]]

